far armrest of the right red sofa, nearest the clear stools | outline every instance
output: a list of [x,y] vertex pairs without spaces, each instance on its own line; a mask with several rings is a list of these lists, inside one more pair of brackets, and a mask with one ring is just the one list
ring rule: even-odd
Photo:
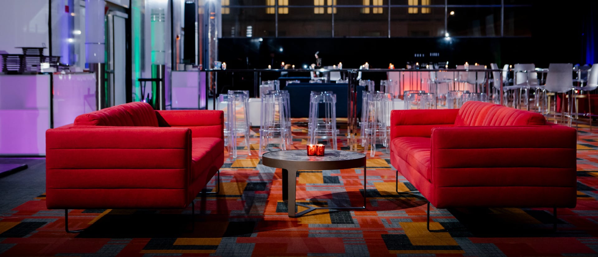
[[390,112],[390,138],[430,137],[435,127],[452,127],[459,109],[393,110]]

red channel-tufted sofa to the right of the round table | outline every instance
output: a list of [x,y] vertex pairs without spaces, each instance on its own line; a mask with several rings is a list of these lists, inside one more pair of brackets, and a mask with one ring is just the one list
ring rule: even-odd
[[575,129],[484,102],[390,123],[391,164],[437,208],[575,207]]

